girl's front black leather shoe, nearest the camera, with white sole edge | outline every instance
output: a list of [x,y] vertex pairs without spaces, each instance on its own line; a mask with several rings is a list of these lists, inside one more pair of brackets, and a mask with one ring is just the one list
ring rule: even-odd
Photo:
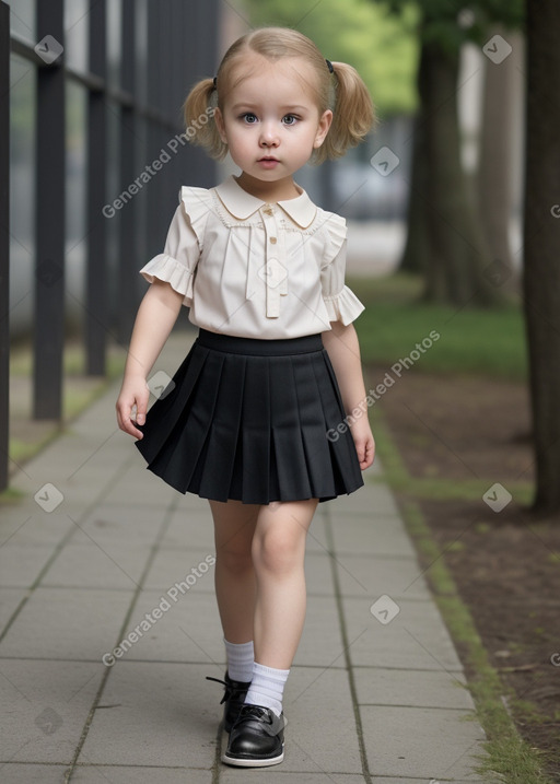
[[245,704],[230,733],[222,762],[237,768],[277,765],[284,758],[284,714]]

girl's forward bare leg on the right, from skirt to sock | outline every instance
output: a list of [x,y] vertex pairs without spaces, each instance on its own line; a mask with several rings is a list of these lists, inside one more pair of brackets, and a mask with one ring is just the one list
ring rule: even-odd
[[[305,540],[317,499],[259,507],[253,537],[255,660],[290,669],[305,620]],[[248,639],[248,637],[247,637]]]

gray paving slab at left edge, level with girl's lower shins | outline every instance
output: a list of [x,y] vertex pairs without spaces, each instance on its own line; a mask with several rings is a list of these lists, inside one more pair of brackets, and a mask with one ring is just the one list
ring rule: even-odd
[[0,644],[0,656],[100,660],[115,645],[131,590],[37,588]]

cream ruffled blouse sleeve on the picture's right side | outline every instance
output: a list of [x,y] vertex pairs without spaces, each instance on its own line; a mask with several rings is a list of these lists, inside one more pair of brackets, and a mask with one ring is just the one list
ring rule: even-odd
[[323,301],[329,321],[351,324],[365,309],[353,291],[345,285],[346,273],[346,221],[340,215],[330,215],[327,222],[329,244],[320,270]]

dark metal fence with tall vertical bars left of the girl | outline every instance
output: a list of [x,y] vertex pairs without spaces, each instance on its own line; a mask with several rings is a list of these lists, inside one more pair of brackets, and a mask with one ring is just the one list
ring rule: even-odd
[[[81,46],[69,51],[77,25]],[[33,302],[33,417],[59,420],[69,307],[80,314],[86,373],[104,375],[109,340],[130,337],[138,269],[161,250],[179,186],[214,184],[212,163],[184,143],[180,107],[189,85],[213,73],[217,26],[218,0],[0,0],[0,489],[8,483],[16,304]],[[33,105],[15,129],[12,117],[12,143],[33,124],[28,242],[15,221],[10,227],[10,184],[18,187],[13,173],[10,179],[10,66],[22,63],[33,71]],[[69,124],[83,134],[83,171],[73,179]],[[83,231],[70,237],[77,206]],[[23,269],[13,257],[26,247],[23,293],[10,297],[10,272]],[[71,265],[78,289],[68,284]]]

